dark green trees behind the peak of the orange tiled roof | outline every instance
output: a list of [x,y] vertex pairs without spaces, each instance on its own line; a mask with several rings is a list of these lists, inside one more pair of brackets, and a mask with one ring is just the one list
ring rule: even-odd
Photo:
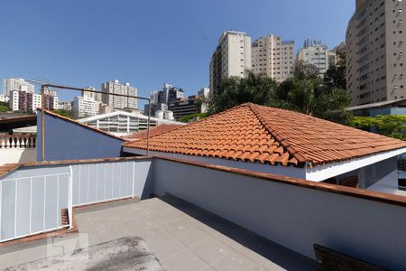
[[208,108],[214,114],[252,102],[346,123],[351,117],[345,110],[349,101],[346,90],[326,85],[318,77],[317,68],[301,63],[295,76],[279,85],[265,74],[252,71],[247,71],[245,78],[224,79],[217,93],[208,99]]

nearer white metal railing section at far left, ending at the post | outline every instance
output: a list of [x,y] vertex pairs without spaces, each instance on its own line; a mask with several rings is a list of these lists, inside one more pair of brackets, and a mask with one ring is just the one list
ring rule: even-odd
[[[71,227],[71,173],[1,180],[0,242]],[[69,224],[62,224],[68,209]]]

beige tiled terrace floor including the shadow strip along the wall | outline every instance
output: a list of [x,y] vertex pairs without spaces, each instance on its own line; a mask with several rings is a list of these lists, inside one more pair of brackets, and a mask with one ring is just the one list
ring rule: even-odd
[[316,261],[170,196],[88,207],[76,219],[78,234],[0,248],[0,267],[137,236],[170,271],[317,270]]

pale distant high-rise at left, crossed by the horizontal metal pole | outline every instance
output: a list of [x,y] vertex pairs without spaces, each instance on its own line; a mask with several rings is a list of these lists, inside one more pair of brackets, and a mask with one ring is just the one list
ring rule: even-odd
[[[102,101],[108,107],[117,109],[136,109],[137,99],[127,98],[114,95],[106,95],[109,93],[137,96],[137,89],[131,87],[129,83],[120,84],[117,79],[103,83],[101,86],[103,92]],[[106,94],[105,94],[106,93]]]

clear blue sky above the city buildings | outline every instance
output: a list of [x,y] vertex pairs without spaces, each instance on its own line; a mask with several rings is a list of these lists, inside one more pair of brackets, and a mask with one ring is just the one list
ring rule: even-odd
[[[128,81],[140,96],[164,82],[208,86],[219,35],[345,40],[355,0],[13,0],[0,4],[0,77],[75,87]],[[59,94],[61,100],[73,93]]]

